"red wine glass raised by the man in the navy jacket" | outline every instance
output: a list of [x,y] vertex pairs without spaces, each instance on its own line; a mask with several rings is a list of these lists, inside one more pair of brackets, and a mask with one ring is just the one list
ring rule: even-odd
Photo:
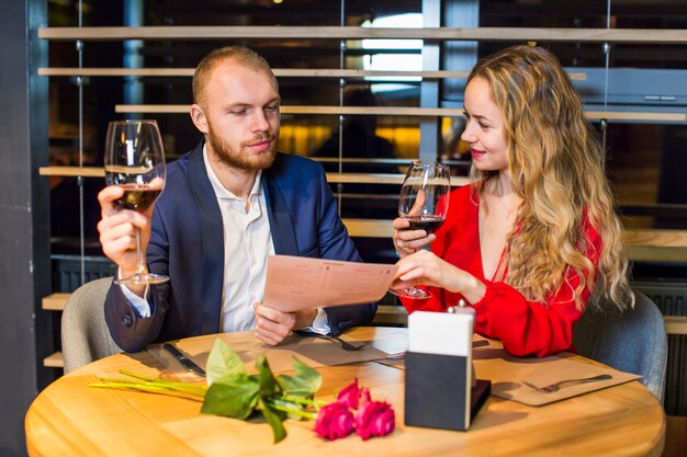
[[[162,138],[155,121],[113,121],[105,139],[105,182],[119,185],[124,195],[114,205],[120,209],[145,212],[165,188],[167,168]],[[148,272],[136,228],[136,272],[116,284],[159,284],[168,276]]]

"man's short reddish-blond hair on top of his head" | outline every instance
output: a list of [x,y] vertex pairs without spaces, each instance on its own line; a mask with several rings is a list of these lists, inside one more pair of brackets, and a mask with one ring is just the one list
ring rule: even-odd
[[279,88],[277,78],[270,68],[270,65],[262,56],[245,46],[225,46],[213,50],[200,61],[193,73],[193,103],[202,105],[203,92],[212,71],[218,62],[223,60],[234,60],[238,65],[262,70],[268,73],[274,81],[274,87]]

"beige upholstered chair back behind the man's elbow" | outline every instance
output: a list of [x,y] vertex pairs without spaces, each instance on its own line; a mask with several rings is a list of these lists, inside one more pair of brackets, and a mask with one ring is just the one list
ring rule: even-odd
[[122,352],[105,323],[105,295],[112,277],[102,277],[76,289],[63,311],[61,342],[65,373]]

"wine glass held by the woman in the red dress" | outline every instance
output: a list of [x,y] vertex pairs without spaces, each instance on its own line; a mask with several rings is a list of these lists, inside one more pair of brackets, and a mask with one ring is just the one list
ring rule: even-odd
[[[398,199],[398,216],[410,222],[407,230],[425,230],[427,235],[437,230],[449,212],[450,193],[451,178],[448,165],[414,160],[403,181]],[[431,293],[417,287],[390,292],[403,298],[431,297]]]

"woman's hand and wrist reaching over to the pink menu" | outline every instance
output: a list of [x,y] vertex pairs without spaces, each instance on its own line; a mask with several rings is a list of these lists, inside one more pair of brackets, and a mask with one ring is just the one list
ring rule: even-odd
[[451,265],[430,251],[417,251],[396,262],[398,272],[392,288],[407,288],[417,285],[441,287],[460,293],[468,301],[480,301],[486,293],[486,286],[480,279]]

